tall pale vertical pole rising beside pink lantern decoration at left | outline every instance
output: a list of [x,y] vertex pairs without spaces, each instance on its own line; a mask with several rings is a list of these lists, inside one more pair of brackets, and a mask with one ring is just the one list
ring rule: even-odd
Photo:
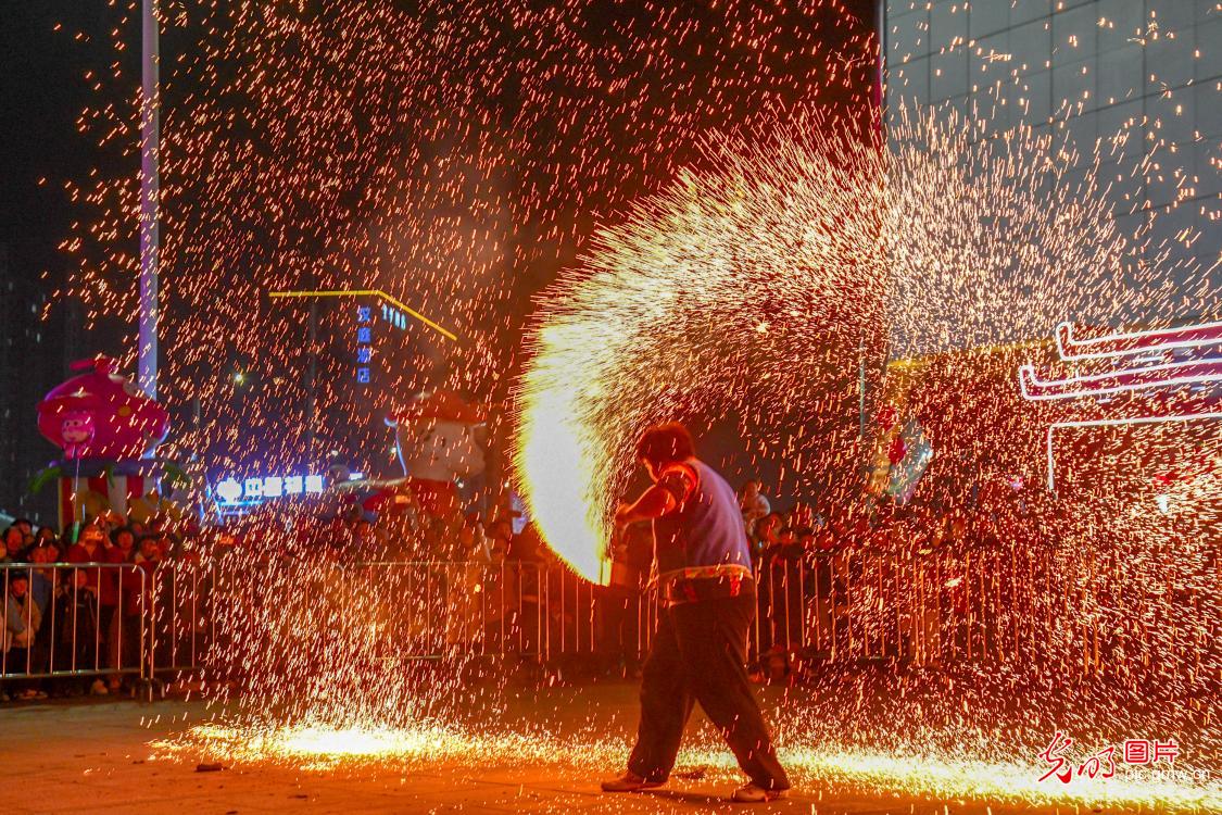
[[156,398],[160,97],[158,93],[158,0],[143,0],[141,67],[141,314],[137,379]]

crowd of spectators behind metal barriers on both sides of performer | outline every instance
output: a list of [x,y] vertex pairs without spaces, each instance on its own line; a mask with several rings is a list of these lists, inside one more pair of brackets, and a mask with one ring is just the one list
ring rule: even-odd
[[[837,609],[848,601],[848,587],[859,578],[853,572],[858,568],[854,555],[960,555],[997,546],[1002,538],[1014,541],[1025,536],[1023,545],[1030,545],[1046,536],[1048,519],[1048,507],[1031,505],[1031,499],[1018,491],[958,507],[897,507],[882,499],[829,502],[822,511],[796,501],[776,511],[760,481],[750,480],[739,499],[758,576],[759,622],[752,654],[759,681],[788,677],[797,670],[803,648],[808,655],[813,649],[826,651],[829,643],[811,646],[808,641],[811,624],[830,628],[830,645],[836,645]],[[276,523],[284,521],[281,517]],[[247,547],[258,539],[275,540],[275,535],[263,534],[260,523],[266,519],[230,523],[221,529],[220,541]],[[349,501],[296,513],[287,532],[304,543],[313,560],[340,568],[419,565],[420,576],[440,590],[401,602],[407,617],[430,621],[430,632],[411,623],[406,629],[409,637],[435,637],[442,648],[455,651],[501,649],[510,638],[514,648],[530,654],[541,652],[545,643],[557,652],[572,643],[573,650],[596,657],[587,663],[595,672],[632,674],[639,670],[650,624],[643,611],[653,562],[651,532],[645,523],[627,528],[611,541],[609,585],[595,588],[578,588],[576,578],[566,583],[565,576],[572,576],[534,524],[508,503],[480,517],[463,514],[457,505],[439,511],[414,499],[373,508],[368,502]],[[150,590],[164,561],[198,561],[204,551],[198,530],[167,518],[139,522],[116,513],[76,524],[62,536],[17,521],[5,530],[4,545],[0,563],[22,565],[4,571],[4,672],[46,673],[49,667],[84,666],[94,673],[86,678],[9,679],[2,698],[21,699],[131,690],[137,676],[130,668],[139,660],[134,649],[142,626],[149,626],[142,617],[148,616],[150,604],[142,599],[141,587]],[[213,547],[219,549],[224,546]],[[425,602],[433,605],[425,607]],[[952,596],[948,602],[959,601]],[[819,607],[814,617],[813,606]]]

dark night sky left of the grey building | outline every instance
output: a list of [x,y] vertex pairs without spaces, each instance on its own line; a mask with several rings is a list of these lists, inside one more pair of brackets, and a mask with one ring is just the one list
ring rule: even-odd
[[[380,412],[439,384],[502,398],[532,298],[576,261],[599,222],[698,161],[704,136],[765,127],[796,105],[866,115],[874,81],[864,65],[847,82],[825,76],[829,55],[869,35],[870,1],[814,12],[800,2],[488,4],[479,13],[464,4],[341,5],[260,18],[163,4],[163,393],[180,430],[196,396],[216,423],[196,437],[171,433],[174,455],[207,448],[243,467],[251,437],[282,436],[263,458],[298,446],[280,430],[299,415],[302,396],[290,385],[303,365],[301,313],[259,299],[273,285],[371,276],[468,337],[463,362],[423,332],[386,348],[385,368],[403,373],[373,400]],[[375,10],[368,17],[354,11],[365,6]],[[841,22],[843,11],[859,20]],[[99,142],[108,122],[134,122],[139,26],[131,10],[53,0],[17,6],[5,31],[7,274],[23,282],[24,298],[65,286],[86,294],[49,309],[21,415],[2,428],[28,435],[33,402],[66,362],[98,351],[130,358],[137,242],[122,194],[136,187],[138,156],[127,133]],[[753,51],[760,40],[767,53]],[[395,62],[413,49],[412,65]],[[480,182],[452,183],[446,172],[466,172],[455,163],[478,170]],[[66,182],[88,189],[99,178],[117,192],[100,204],[70,200]],[[413,217],[424,226],[403,226]],[[470,222],[494,248],[472,243]],[[99,239],[99,224],[115,233]],[[84,248],[57,249],[70,238]],[[346,316],[324,312],[337,357]],[[368,419],[368,395],[353,397],[346,379],[351,360],[334,363],[323,374],[329,423]],[[200,380],[237,368],[262,373],[248,392],[198,392]],[[42,440],[22,444],[18,459],[54,455]],[[0,496],[0,506],[12,501]]]

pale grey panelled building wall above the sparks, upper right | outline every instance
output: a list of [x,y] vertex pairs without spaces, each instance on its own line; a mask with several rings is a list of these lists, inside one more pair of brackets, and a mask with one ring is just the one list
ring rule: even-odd
[[[1097,178],[1117,227],[1134,235],[1147,226],[1146,260],[1157,255],[1176,269],[1169,285],[1179,291],[1162,299],[1167,312],[1158,318],[1216,316],[1209,312],[1222,288],[1222,2],[884,6],[888,120],[920,105],[979,122],[975,138],[1028,125],[1036,136],[1066,138],[1081,164],[1072,172],[1081,174],[1101,144]],[[1124,134],[1123,149],[1111,149]]]

